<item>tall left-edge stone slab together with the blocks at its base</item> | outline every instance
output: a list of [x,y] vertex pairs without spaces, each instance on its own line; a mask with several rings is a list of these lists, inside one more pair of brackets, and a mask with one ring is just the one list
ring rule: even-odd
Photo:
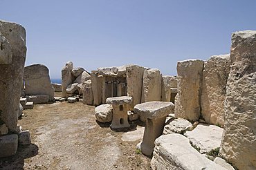
[[0,158],[14,155],[19,144],[30,144],[29,131],[17,126],[26,59],[26,30],[0,21]]

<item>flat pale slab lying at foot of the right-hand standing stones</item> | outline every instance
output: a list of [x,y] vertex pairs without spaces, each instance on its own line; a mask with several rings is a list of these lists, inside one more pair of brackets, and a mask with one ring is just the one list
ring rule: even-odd
[[199,124],[193,131],[187,131],[187,136],[193,145],[200,148],[200,153],[208,153],[221,146],[223,129],[219,126]]

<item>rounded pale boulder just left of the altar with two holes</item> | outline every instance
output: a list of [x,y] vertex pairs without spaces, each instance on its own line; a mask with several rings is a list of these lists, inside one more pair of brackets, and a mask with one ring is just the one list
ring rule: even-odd
[[99,122],[112,121],[113,108],[111,104],[101,104],[95,107],[95,117]]

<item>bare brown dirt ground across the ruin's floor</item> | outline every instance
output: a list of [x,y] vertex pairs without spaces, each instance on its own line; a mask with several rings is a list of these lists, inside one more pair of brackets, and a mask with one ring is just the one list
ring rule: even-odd
[[25,110],[18,123],[30,130],[32,144],[0,159],[0,169],[150,169],[150,159],[136,151],[143,126],[111,131],[95,121],[94,108],[55,102]]

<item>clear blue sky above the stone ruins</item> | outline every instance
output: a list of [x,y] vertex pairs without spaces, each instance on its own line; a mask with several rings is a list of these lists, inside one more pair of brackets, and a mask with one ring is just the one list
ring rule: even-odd
[[67,61],[86,70],[138,64],[176,75],[176,62],[230,51],[231,33],[256,29],[256,1],[0,0],[0,19],[26,28],[26,65],[59,78]]

